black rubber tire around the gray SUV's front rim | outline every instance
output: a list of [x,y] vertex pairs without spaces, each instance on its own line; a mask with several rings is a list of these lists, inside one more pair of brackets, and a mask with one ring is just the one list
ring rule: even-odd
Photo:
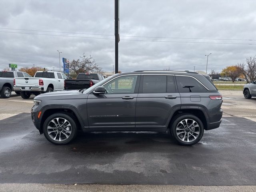
[[[70,123],[70,127],[69,127],[69,129],[71,130],[71,133],[70,133],[70,135],[69,135],[69,137],[68,138],[66,138],[65,139],[65,135],[63,135],[63,132],[62,131],[64,131],[64,133],[66,133],[66,134],[68,134],[68,132],[65,132],[65,130],[61,130],[60,131],[60,129],[58,129],[56,126],[55,126],[55,124],[52,124],[51,123],[51,121],[52,120],[54,120],[54,119],[56,119],[56,118],[59,118],[59,120],[63,120],[63,119],[65,119],[65,120],[67,120],[69,123]],[[55,113],[55,114],[52,114],[51,116],[49,116],[45,121],[44,121],[44,126],[43,126],[43,132],[44,132],[44,136],[45,136],[45,138],[48,140],[48,141],[50,141],[51,143],[53,143],[53,144],[57,144],[57,145],[65,145],[65,144],[68,144],[69,142],[71,142],[75,137],[76,137],[76,134],[77,134],[77,127],[76,127],[76,122],[74,121],[74,116],[72,116],[71,114],[65,114],[65,113]],[[58,131],[57,132],[57,136],[56,136],[56,133],[55,132],[53,132],[53,133],[48,133],[48,125],[50,124],[50,126],[53,126],[53,129],[50,129],[50,132],[51,131]],[[65,124],[64,124],[64,126],[65,126]],[[56,127],[56,128],[55,128]],[[68,130],[68,131],[70,131],[70,130]],[[58,140],[58,138],[60,138],[60,135],[61,135],[61,133],[60,132],[62,132],[62,139],[63,139],[63,141],[57,141]],[[59,135],[58,135],[59,134]],[[50,136],[51,135],[51,136]],[[56,137],[56,140],[54,140],[54,138]],[[64,140],[65,139],[65,140]]]

